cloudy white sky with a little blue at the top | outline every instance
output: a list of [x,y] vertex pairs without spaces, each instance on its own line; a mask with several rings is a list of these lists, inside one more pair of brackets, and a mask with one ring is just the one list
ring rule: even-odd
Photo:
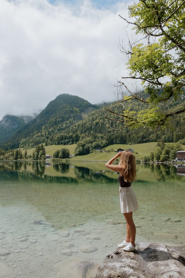
[[[0,120],[32,115],[59,94],[115,100],[127,58],[128,2],[0,0]],[[124,27],[125,25],[125,27]],[[127,27],[128,35],[132,31]]]

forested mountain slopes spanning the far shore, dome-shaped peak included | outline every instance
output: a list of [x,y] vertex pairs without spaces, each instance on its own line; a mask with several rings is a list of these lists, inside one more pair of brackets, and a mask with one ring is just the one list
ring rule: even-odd
[[[171,101],[165,109],[184,105],[184,99]],[[122,112],[123,107],[115,104],[115,111]],[[125,104],[125,109],[132,111],[145,109],[145,104],[132,100]],[[45,145],[66,145],[77,142],[93,144],[93,147],[105,147],[111,144],[136,144],[163,139],[164,142],[177,142],[185,138],[185,114],[171,117],[169,126],[159,128],[153,135],[149,128],[110,130],[108,125],[120,128],[118,121],[109,121],[105,116],[113,118],[101,105],[93,105],[86,100],[69,94],[59,95],[27,126],[17,131],[11,139],[1,147],[5,149],[33,147],[41,143]],[[153,135],[153,136],[152,136]],[[151,137],[152,136],[152,137]],[[146,138],[149,138],[145,140]],[[145,140],[145,141],[144,141]]]

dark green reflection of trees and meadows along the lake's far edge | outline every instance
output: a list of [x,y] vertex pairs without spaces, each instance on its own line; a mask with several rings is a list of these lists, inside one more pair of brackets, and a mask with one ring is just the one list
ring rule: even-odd
[[[0,179],[32,179],[58,182],[105,182],[115,183],[118,173],[109,171],[104,164],[85,163],[72,165],[67,163],[1,161]],[[185,165],[137,164],[137,181],[184,180]]]

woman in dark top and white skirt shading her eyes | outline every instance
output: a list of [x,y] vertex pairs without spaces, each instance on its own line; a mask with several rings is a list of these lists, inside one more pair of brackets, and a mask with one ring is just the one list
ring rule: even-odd
[[[119,165],[112,165],[113,161],[120,157]],[[105,166],[113,171],[119,172],[120,184],[120,208],[127,222],[127,235],[125,240],[118,245],[124,251],[130,252],[136,249],[136,226],[133,222],[133,211],[138,209],[136,195],[131,187],[131,182],[136,179],[136,158],[130,151],[117,153]]]

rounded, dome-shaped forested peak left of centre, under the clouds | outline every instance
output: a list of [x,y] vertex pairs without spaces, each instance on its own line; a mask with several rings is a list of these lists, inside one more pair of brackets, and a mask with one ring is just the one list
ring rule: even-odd
[[90,111],[98,107],[80,97],[60,94],[36,118],[1,143],[1,147],[12,149],[32,147],[43,142],[47,144],[47,140],[51,141],[54,134],[85,119]]

